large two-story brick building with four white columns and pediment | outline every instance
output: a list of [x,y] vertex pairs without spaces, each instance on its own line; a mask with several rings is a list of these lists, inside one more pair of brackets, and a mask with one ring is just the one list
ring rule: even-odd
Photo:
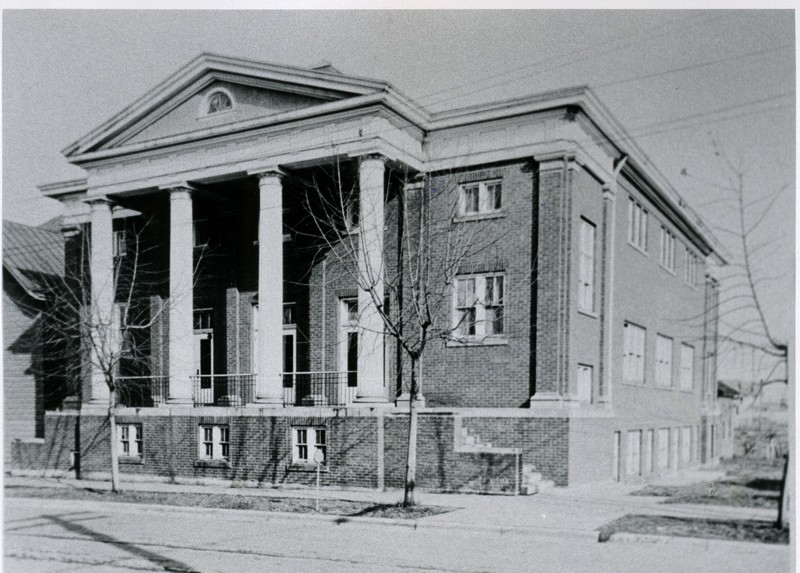
[[[452,263],[452,332],[423,357],[420,487],[638,480],[718,456],[724,260],[586,87],[431,113],[330,67],[206,54],[64,153],[86,179],[41,190],[64,203],[68,267],[90,253],[96,310],[146,325],[119,372],[136,389],[124,472],[306,483],[319,451],[325,483],[402,485],[407,364],[376,321],[398,290],[371,297],[340,256],[392,281],[400,190],[443,236],[490,240]],[[343,206],[336,244],[316,236],[326,204]],[[428,247],[433,267],[454,248]],[[134,258],[138,286],[113,270]],[[104,472],[108,388],[84,374],[82,469]]]

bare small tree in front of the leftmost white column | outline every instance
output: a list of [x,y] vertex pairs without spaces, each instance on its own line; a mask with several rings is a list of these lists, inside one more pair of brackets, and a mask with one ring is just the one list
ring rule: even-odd
[[[161,318],[163,307],[153,311],[149,296],[165,283],[157,251],[143,238],[149,221],[135,217],[115,235],[114,268],[111,277],[91,277],[87,228],[77,229],[64,277],[47,285],[46,343],[58,348],[60,369],[68,388],[83,402],[83,388],[90,373],[99,373],[108,388],[107,422],[110,438],[111,490],[120,491],[116,413],[121,403],[149,393],[151,353],[149,336]],[[92,281],[108,281],[113,304],[94,300]],[[132,373],[138,382],[127,382]]]

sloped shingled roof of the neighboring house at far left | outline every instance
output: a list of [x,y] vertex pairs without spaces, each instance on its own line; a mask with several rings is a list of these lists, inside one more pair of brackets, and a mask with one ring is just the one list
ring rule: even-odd
[[61,233],[3,220],[3,268],[31,297],[44,300],[48,277],[64,274]]

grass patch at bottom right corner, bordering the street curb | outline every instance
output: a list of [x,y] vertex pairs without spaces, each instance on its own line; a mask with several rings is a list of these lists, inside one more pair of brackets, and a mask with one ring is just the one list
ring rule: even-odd
[[600,541],[615,533],[638,533],[671,537],[696,537],[727,541],[789,544],[789,528],[775,529],[768,521],[752,519],[703,519],[665,515],[626,515],[600,528]]

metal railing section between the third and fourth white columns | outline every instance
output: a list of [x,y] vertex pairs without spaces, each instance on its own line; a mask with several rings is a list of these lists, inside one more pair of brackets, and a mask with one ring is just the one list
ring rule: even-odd
[[284,406],[347,406],[356,397],[355,372],[286,372]]

